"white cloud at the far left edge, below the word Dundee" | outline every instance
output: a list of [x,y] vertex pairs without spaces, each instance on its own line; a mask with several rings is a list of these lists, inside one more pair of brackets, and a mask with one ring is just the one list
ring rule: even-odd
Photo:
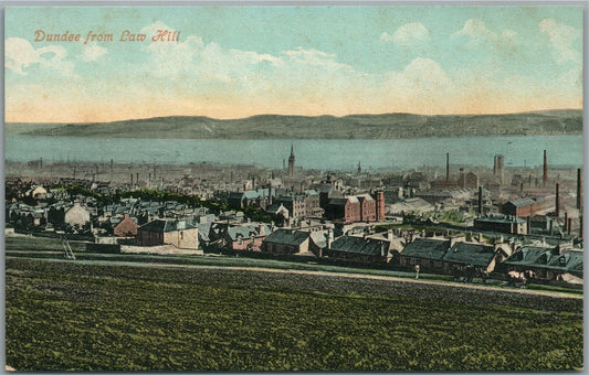
[[61,45],[46,45],[34,49],[20,38],[9,38],[4,42],[4,66],[14,73],[27,74],[23,68],[39,64],[65,76],[77,77],[73,73],[74,63],[65,60],[67,51]]

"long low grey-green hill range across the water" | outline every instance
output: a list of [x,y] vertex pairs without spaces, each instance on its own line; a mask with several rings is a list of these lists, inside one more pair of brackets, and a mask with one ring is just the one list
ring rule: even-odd
[[582,110],[509,115],[261,115],[221,120],[172,116],[96,124],[7,124],[6,133],[84,138],[399,139],[492,135],[579,135]]

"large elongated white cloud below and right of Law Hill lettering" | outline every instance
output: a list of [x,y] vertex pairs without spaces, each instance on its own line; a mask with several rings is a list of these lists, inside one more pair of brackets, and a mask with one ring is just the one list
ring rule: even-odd
[[[141,30],[148,36],[157,30],[171,30],[155,22]],[[220,83],[245,90],[271,90],[275,83],[293,81],[323,81],[336,72],[353,71],[340,64],[336,56],[314,49],[297,47],[278,55],[236,49],[225,49],[218,43],[204,43],[201,38],[188,36],[183,42],[152,42],[144,46],[151,53],[146,71],[160,78]],[[313,77],[313,78],[311,78]],[[327,78],[326,78],[327,77]]]

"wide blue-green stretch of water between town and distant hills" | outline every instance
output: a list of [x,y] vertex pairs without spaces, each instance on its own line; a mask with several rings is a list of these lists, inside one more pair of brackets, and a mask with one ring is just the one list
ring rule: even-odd
[[543,151],[553,167],[582,167],[583,137],[492,136],[425,139],[354,140],[239,140],[239,139],[85,139],[72,137],[7,136],[6,159],[30,161],[84,161],[118,163],[222,163],[282,168],[291,144],[296,167],[354,170],[410,169],[451,164],[493,167],[496,153],[507,167],[537,167]]

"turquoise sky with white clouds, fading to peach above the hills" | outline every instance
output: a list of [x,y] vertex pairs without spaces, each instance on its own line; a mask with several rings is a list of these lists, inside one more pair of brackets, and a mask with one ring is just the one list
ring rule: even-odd
[[[582,108],[581,7],[9,7],[4,19],[7,122]],[[154,41],[160,30],[177,41]],[[48,41],[65,32],[80,40]]]

